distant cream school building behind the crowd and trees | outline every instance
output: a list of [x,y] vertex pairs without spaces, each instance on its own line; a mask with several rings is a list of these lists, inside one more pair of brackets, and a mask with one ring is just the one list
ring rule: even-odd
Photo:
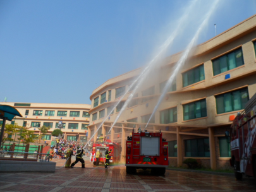
[[[90,105],[88,104],[44,104],[44,103],[15,103],[2,102],[2,105],[11,105],[15,107],[23,117],[15,117],[13,121],[6,121],[6,124],[18,124],[29,130],[34,131],[35,135],[40,135],[38,128],[41,126],[49,127],[46,135],[42,136],[45,143],[50,144],[54,141],[51,133],[58,129],[59,122],[62,123],[61,131],[64,139],[76,141],[76,135],[79,134],[78,141],[87,141],[87,126],[90,121]],[[2,122],[0,121],[0,124]],[[17,141],[18,135],[12,135]],[[42,141],[42,142],[44,142]]]

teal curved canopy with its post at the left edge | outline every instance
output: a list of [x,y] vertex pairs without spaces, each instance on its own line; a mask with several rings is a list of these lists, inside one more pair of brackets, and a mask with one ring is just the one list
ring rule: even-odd
[[11,107],[10,105],[0,105],[0,119],[3,119],[1,135],[0,135],[0,146],[2,144],[2,140],[4,136],[4,127],[5,127],[6,120],[11,121],[15,116],[22,117],[20,112],[18,112],[18,110],[15,109],[15,107]]

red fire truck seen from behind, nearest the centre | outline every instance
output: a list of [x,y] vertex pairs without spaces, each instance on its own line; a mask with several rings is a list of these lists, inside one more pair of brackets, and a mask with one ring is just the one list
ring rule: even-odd
[[132,133],[126,141],[126,172],[135,173],[136,169],[151,169],[153,174],[165,174],[168,167],[168,142],[162,133],[147,131]]

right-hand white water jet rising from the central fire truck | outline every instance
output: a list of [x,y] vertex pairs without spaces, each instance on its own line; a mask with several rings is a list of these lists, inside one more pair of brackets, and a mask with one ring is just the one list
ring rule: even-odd
[[[167,81],[164,90],[162,92],[162,95],[160,96],[159,100],[157,101],[157,105],[155,105],[154,111],[152,112],[150,119],[154,116],[155,112],[157,111],[159,105],[162,102],[162,99],[164,99],[164,96],[166,95],[166,93],[169,90],[169,87],[171,86],[171,83],[173,83],[173,79],[174,77],[177,75],[178,71],[180,70],[180,68],[183,66],[183,64],[185,63],[186,59],[188,58],[188,54],[190,53],[193,45],[195,44],[195,42],[198,39],[198,36],[200,34],[200,32],[202,31],[202,29],[205,27],[205,25],[207,24],[207,21],[209,20],[210,16],[212,15],[214,9],[217,6],[217,3],[219,3],[219,0],[215,0],[214,3],[212,4],[212,9],[210,9],[210,11],[207,13],[207,15],[205,16],[204,21],[201,23],[200,27],[198,28],[197,32],[195,33],[195,36],[193,37],[193,39],[190,41],[190,44],[188,44],[188,47],[186,47],[185,52],[183,52],[180,60],[178,61],[178,63],[176,64],[176,68],[173,71],[173,75],[170,76],[169,80]],[[147,122],[147,125],[149,124],[149,121]],[[145,128],[147,127],[147,125],[145,126]],[[145,130],[145,129],[144,129]]]

